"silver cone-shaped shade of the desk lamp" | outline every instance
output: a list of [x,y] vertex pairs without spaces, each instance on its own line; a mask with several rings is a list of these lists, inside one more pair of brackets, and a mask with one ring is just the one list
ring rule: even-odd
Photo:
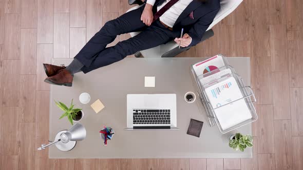
[[60,139],[63,143],[69,141],[79,141],[86,137],[86,130],[80,123],[74,124],[67,132],[60,135]]

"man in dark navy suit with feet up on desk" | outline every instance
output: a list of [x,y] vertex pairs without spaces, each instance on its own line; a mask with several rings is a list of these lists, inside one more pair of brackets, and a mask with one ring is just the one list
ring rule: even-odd
[[[44,81],[70,87],[75,73],[88,73],[173,39],[181,47],[195,46],[219,9],[220,0],[146,0],[142,7],[107,22],[69,66],[44,63],[48,76]],[[182,28],[185,34],[180,38]],[[137,31],[141,33],[106,48],[117,35]]]

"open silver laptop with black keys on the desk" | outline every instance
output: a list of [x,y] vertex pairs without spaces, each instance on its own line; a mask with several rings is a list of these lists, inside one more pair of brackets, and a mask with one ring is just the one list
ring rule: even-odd
[[176,105],[176,94],[128,94],[125,130],[178,130]]

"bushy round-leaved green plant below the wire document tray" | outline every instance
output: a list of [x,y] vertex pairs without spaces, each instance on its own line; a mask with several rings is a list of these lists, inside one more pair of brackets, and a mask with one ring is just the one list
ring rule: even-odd
[[246,147],[253,147],[253,138],[251,135],[242,135],[240,133],[236,133],[232,135],[230,138],[229,146],[233,148],[235,151],[244,151]]

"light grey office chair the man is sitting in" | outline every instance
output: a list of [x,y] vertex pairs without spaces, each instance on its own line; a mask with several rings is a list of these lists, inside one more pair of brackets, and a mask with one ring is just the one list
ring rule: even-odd
[[[202,40],[200,42],[214,36],[214,31],[212,30],[212,28],[216,24],[218,24],[224,17],[226,17],[230,13],[232,13],[241,4],[242,1],[243,0],[221,0],[220,1],[221,9],[219,10],[216,17],[214,18],[213,23],[210,25],[210,27],[204,33]],[[143,5],[143,2],[141,0],[128,0],[128,4],[129,5],[137,4],[139,6],[132,7],[127,12],[140,8]],[[138,35],[139,33],[140,32],[131,32],[130,36],[134,37],[134,36]],[[177,45],[177,43],[174,40],[172,40],[172,41],[169,41],[166,44],[160,45],[158,47],[138,51],[135,54],[135,56],[136,57],[144,56],[146,58],[149,58],[149,57],[175,57],[176,55],[178,55],[186,50],[189,50],[190,48],[192,48],[192,47],[185,47],[185,48],[179,49],[179,46]]]

